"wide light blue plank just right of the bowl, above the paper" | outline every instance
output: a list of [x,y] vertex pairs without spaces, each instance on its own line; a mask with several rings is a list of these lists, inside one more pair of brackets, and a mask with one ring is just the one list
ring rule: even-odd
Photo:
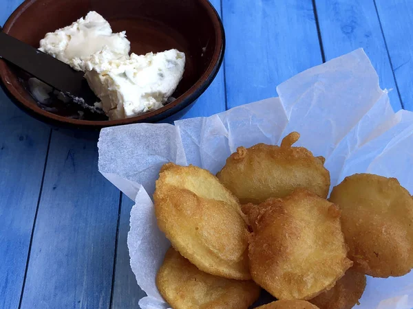
[[224,0],[229,107],[276,96],[284,80],[322,62],[310,0]]

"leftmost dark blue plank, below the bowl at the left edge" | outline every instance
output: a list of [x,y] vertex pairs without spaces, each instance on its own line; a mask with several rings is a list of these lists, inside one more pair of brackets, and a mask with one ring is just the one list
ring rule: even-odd
[[0,308],[17,308],[50,128],[15,107],[0,89]]

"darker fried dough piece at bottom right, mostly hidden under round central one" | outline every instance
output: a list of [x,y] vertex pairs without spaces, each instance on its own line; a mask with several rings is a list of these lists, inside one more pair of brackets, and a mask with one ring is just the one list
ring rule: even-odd
[[366,288],[366,275],[350,268],[330,290],[310,299],[320,309],[351,309],[359,304]]

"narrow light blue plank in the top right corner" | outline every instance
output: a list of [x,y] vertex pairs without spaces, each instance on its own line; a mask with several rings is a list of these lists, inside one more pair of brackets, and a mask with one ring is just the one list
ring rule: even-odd
[[413,111],[413,1],[376,0],[394,76],[405,109]]

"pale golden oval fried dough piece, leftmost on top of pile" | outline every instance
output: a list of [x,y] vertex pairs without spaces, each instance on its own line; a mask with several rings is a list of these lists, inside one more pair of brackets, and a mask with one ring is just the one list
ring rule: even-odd
[[184,258],[211,275],[251,279],[244,214],[213,174],[167,163],[153,199],[160,230]]

